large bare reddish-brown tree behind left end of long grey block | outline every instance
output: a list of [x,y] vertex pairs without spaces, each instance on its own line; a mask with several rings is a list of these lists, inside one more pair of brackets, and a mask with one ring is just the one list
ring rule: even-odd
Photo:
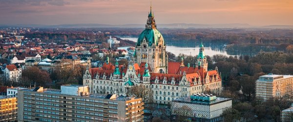
[[24,69],[21,75],[21,84],[24,86],[46,86],[47,83],[51,82],[49,74],[36,66]]

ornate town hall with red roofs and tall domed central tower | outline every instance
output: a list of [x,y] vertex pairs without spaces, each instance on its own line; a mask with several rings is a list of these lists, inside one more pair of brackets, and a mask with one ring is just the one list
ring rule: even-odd
[[[208,61],[204,45],[195,61],[196,66],[181,62],[168,62],[166,43],[156,29],[154,15],[151,12],[146,21],[146,29],[139,35],[134,55],[128,66],[112,64],[109,59],[97,68],[87,68],[84,85],[88,85],[91,94],[132,95],[131,88],[143,85],[149,95],[145,102],[169,103],[181,97],[196,93],[219,94],[222,80],[217,67],[208,70]],[[143,98],[144,99],[144,98]]]

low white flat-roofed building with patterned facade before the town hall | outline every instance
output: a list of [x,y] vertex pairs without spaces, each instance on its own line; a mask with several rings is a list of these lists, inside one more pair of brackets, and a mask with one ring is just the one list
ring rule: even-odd
[[170,109],[173,115],[180,115],[195,122],[223,122],[221,114],[230,107],[232,100],[229,98],[195,94],[173,100]]

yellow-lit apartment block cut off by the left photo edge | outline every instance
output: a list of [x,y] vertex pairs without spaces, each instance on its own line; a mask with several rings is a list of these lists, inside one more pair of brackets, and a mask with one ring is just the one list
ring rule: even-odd
[[0,96],[0,122],[17,120],[17,98],[15,95]]

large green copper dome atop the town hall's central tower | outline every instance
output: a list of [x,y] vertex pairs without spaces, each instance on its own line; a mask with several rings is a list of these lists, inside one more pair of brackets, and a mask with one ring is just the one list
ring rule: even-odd
[[138,37],[137,45],[141,46],[141,43],[146,39],[146,42],[148,43],[148,46],[151,46],[152,43],[155,43],[155,45],[158,45],[159,38],[163,39],[163,42],[165,44],[164,38],[162,34],[155,28],[153,29],[145,29]]

